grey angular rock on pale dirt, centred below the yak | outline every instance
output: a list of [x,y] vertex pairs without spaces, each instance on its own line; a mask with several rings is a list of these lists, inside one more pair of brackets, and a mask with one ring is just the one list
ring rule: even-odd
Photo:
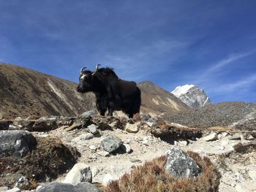
[[123,142],[121,139],[114,135],[108,135],[105,139],[102,140],[102,142],[100,142],[104,150],[108,151],[108,153],[112,153],[113,151],[117,150],[122,143]]

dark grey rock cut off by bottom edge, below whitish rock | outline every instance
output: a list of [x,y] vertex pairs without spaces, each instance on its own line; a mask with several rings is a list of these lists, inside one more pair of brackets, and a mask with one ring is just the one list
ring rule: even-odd
[[48,185],[42,186],[37,192],[100,192],[99,189],[91,183],[83,182],[78,185],[72,185],[69,183],[53,182]]

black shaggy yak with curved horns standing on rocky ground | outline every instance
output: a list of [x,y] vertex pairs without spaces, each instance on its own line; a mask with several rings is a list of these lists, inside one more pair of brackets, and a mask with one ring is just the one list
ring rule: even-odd
[[92,91],[97,97],[97,109],[105,113],[108,109],[108,116],[113,116],[114,110],[121,110],[132,118],[140,112],[140,89],[135,82],[121,80],[112,68],[99,69],[83,72],[80,74],[79,92]]

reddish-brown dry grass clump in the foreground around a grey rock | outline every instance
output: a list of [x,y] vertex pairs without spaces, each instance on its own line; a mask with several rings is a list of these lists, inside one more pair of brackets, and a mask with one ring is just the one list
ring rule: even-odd
[[137,166],[131,174],[124,174],[119,180],[114,180],[105,192],[164,192],[164,191],[218,191],[219,172],[211,161],[193,152],[188,155],[202,167],[203,173],[195,178],[178,179],[165,172],[166,157],[155,158],[143,166]]

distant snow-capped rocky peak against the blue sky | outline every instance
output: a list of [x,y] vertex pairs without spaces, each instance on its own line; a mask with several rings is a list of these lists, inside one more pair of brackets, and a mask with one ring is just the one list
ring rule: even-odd
[[182,85],[171,91],[178,99],[191,108],[198,108],[211,104],[209,97],[196,85]]

